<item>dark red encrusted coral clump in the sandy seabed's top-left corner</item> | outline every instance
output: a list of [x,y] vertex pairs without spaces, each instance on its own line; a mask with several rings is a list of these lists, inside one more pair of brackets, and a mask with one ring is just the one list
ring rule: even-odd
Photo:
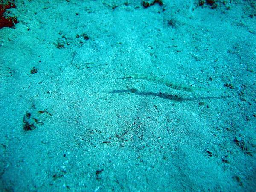
[[18,23],[16,17],[3,17],[6,9],[15,8],[15,4],[7,1],[7,4],[0,4],[0,29],[3,27],[12,27],[15,23]]

